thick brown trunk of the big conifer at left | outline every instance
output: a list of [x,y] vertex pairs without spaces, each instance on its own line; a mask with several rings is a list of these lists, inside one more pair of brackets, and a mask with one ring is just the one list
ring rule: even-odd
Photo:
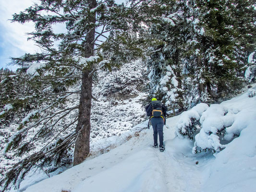
[[[93,9],[97,5],[96,0],[88,0],[89,9]],[[91,13],[90,23],[96,23],[96,13]],[[88,58],[94,55],[94,38],[95,27],[89,30],[86,36],[85,51],[83,56]],[[91,101],[92,101],[92,67],[88,67],[82,76],[81,96],[79,103],[78,122],[76,126],[77,138],[74,148],[73,165],[82,163],[90,153],[90,131],[91,131]]]

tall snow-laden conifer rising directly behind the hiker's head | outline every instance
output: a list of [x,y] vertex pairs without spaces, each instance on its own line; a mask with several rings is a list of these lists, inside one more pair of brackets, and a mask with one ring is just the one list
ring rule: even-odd
[[158,95],[169,108],[179,111],[189,107],[185,100],[189,90],[184,90],[184,86],[188,45],[193,40],[193,8],[193,1],[165,2],[160,5],[158,21],[150,25],[150,35],[160,42],[150,48],[147,61],[152,95]]

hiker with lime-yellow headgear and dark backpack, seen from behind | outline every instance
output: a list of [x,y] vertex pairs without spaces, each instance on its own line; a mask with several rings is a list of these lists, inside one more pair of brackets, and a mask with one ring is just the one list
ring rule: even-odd
[[158,101],[156,98],[152,98],[151,103],[146,105],[146,114],[150,116],[151,124],[154,130],[154,147],[158,148],[158,135],[159,135],[159,149],[164,151],[163,144],[163,126],[166,124],[166,111],[167,107]]

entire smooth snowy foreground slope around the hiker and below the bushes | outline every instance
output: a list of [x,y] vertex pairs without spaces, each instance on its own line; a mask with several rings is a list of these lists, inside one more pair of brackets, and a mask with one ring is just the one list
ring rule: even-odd
[[214,156],[193,154],[194,142],[175,137],[174,127],[181,117],[176,116],[167,120],[169,129],[164,128],[163,153],[152,147],[152,128],[145,129],[109,153],[32,185],[25,192],[255,192],[256,96],[245,93],[221,105],[250,111],[251,115],[248,118],[241,113],[246,125],[240,136]]

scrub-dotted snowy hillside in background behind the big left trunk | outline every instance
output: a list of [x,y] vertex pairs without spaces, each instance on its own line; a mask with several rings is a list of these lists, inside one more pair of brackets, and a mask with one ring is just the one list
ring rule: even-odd
[[[145,93],[147,84],[145,73],[146,66],[140,60],[123,64],[120,69],[113,69],[112,72],[98,71],[97,78],[95,78],[93,84],[93,96],[97,98],[98,101],[92,101],[91,156],[106,153],[111,148],[127,141],[127,138],[131,137],[131,134],[134,134],[134,132],[141,130],[138,128],[132,132],[130,131],[135,125],[146,119],[146,114],[142,106],[142,101],[144,101],[147,96]],[[75,86],[69,87],[69,91],[75,92],[79,90],[80,86],[81,84],[76,84]],[[47,111],[48,114],[45,115],[54,114],[57,111],[72,108],[78,104],[79,96],[71,95],[67,98],[65,103],[54,108],[49,108],[49,111]],[[48,105],[48,102],[46,102],[41,108],[45,108]],[[6,110],[9,109],[10,106],[6,106]],[[0,112],[1,111],[0,109]],[[29,117],[31,116],[29,114],[33,114],[34,112],[35,109],[27,111],[24,117]],[[73,110],[60,120],[56,126],[51,129],[49,134],[46,137],[39,138],[34,144],[34,147],[30,147],[30,153],[26,153],[22,158],[31,155],[32,152],[39,151],[44,148],[46,144],[49,144],[49,146],[56,144],[56,141],[53,139],[56,135],[59,135],[61,138],[72,133],[75,130],[75,123],[64,132],[61,132],[61,130],[73,122],[77,113],[78,110]],[[44,116],[43,113],[41,115]],[[62,115],[63,114],[60,113],[53,121],[58,120]],[[10,150],[8,153],[4,153],[4,151],[7,147],[7,143],[11,141],[10,138],[12,138],[12,135],[17,134],[17,128],[24,117],[15,116],[15,119],[11,121],[10,125],[0,126],[0,179],[6,175],[13,164],[21,160],[21,156],[14,155],[14,150]],[[27,119],[28,118],[24,118],[24,120]],[[31,124],[33,123],[34,122],[31,122]],[[31,129],[20,145],[22,146],[22,144],[30,142],[42,126],[43,124]],[[33,167],[25,176],[24,180],[22,180],[19,188],[21,190],[25,189],[29,185],[47,179],[49,176],[53,176],[67,169],[68,164],[72,164],[73,149],[74,146],[69,149],[66,158],[63,158],[63,164],[56,165],[52,162],[46,164],[45,167]],[[37,174],[37,177],[33,177],[34,174]],[[14,188],[14,186],[11,187]]]

